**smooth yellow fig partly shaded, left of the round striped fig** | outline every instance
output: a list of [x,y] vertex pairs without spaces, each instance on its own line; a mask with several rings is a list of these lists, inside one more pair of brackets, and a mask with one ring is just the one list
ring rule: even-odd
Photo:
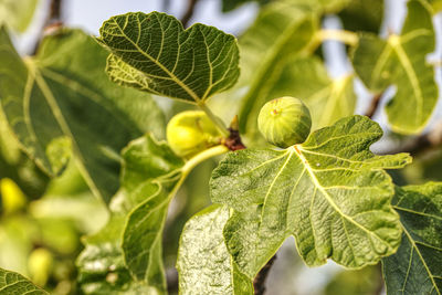
[[170,148],[180,157],[191,157],[221,141],[221,134],[202,110],[187,110],[170,119],[166,129]]

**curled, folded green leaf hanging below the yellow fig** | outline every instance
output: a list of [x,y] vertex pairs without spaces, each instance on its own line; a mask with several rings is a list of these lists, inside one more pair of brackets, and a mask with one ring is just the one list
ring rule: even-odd
[[105,293],[114,285],[122,293],[164,294],[162,228],[183,160],[150,136],[130,143],[123,159],[122,190],[110,203],[110,219],[85,240],[77,261],[82,288]]

